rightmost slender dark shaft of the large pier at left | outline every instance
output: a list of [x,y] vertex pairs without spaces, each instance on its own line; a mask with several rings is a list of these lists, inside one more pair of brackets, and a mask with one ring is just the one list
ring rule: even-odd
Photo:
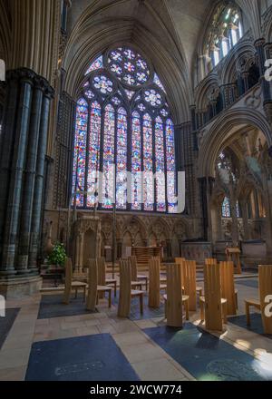
[[28,257],[28,268],[36,270],[38,248],[41,234],[41,218],[42,218],[42,204],[43,204],[43,189],[44,189],[44,166],[45,166],[45,151],[47,143],[48,120],[50,111],[50,101],[53,96],[51,88],[45,88],[44,100],[42,105],[41,115],[41,131],[38,143],[36,177],[34,183],[34,202],[33,202],[33,218],[31,226],[31,237]]

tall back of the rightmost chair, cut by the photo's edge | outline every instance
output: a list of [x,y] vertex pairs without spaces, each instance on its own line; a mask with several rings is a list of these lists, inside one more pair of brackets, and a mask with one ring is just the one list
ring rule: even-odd
[[258,290],[265,334],[272,334],[272,317],[267,317],[265,309],[269,303],[266,297],[272,295],[272,266],[260,265],[258,267]]

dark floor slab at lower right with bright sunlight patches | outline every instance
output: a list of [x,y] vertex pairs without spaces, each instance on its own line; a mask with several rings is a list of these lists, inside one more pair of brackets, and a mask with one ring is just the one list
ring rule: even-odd
[[272,381],[272,370],[255,357],[190,323],[144,332],[199,381]]

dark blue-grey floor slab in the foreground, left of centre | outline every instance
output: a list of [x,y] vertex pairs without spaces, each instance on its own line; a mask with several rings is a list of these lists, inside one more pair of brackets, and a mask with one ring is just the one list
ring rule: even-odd
[[26,381],[139,381],[109,334],[35,343]]

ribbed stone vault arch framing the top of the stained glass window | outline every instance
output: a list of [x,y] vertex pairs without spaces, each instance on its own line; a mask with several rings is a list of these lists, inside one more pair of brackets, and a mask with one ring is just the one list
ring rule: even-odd
[[[182,50],[177,52],[177,44],[170,29],[160,18],[156,24],[160,29],[152,31],[144,21],[139,21],[133,15],[115,16],[124,14],[121,1],[111,5],[90,5],[80,15],[74,24],[64,57],[63,69],[67,71],[64,82],[64,91],[75,100],[77,88],[83,81],[84,72],[99,54],[104,53],[110,46],[127,44],[140,49],[141,54],[151,59],[162,83],[168,92],[170,109],[175,123],[189,120],[189,91],[188,66]],[[150,12],[147,7],[147,13]],[[168,9],[165,10],[169,13]],[[153,18],[153,15],[149,15]],[[165,40],[169,41],[166,45]]]

